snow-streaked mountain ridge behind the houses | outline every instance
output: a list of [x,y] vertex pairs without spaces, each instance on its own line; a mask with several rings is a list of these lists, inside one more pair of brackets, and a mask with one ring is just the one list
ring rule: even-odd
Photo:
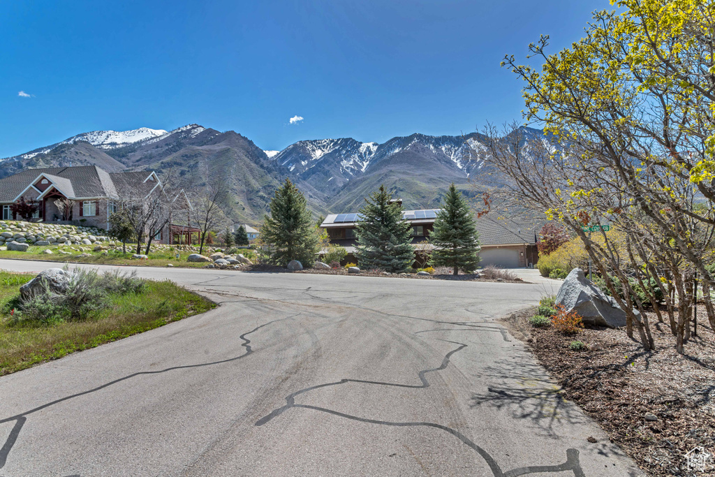
[[[543,134],[528,128],[529,134]],[[29,167],[97,164],[110,170],[174,169],[187,190],[222,174],[231,188],[231,219],[257,224],[280,184],[290,178],[306,195],[315,215],[350,212],[384,184],[405,207],[434,208],[452,182],[465,193],[478,189],[485,137],[413,133],[383,143],[352,137],[305,139],[281,151],[265,151],[234,131],[200,124],[171,131],[139,128],[94,131],[25,154],[0,159],[0,177]]]

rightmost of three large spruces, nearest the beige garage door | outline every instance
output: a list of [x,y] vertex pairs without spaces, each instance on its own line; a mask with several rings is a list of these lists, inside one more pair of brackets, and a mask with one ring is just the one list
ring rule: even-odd
[[432,265],[453,267],[454,275],[459,270],[475,270],[479,265],[479,235],[474,215],[454,184],[449,187],[434,227],[429,237],[436,247],[432,251]]

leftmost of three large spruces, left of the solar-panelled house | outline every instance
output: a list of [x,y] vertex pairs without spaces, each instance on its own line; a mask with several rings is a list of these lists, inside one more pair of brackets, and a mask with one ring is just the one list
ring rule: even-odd
[[275,265],[285,267],[291,260],[298,260],[305,267],[315,263],[319,251],[317,229],[305,197],[288,179],[275,191],[261,237],[269,245],[270,262]]

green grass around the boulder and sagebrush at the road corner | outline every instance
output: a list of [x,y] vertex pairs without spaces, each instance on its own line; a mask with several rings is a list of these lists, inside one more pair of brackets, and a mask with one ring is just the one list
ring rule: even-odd
[[87,320],[51,325],[16,321],[11,315],[13,300],[19,287],[33,277],[0,271],[0,375],[159,328],[216,306],[173,282],[147,281],[142,292],[109,295],[107,307]]

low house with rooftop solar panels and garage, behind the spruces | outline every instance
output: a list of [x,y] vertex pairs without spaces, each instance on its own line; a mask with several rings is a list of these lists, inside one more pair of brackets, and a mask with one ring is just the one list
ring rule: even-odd
[[[423,262],[425,254],[434,247],[427,240],[434,228],[439,209],[405,210],[403,218],[412,225],[412,243],[415,244],[415,259]],[[345,247],[347,261],[355,261],[357,236],[355,224],[360,214],[328,215],[320,224],[327,230],[330,243]],[[480,265],[495,265],[503,268],[531,267],[538,262],[537,236],[533,225],[509,219],[481,217],[476,220],[481,250]]]

